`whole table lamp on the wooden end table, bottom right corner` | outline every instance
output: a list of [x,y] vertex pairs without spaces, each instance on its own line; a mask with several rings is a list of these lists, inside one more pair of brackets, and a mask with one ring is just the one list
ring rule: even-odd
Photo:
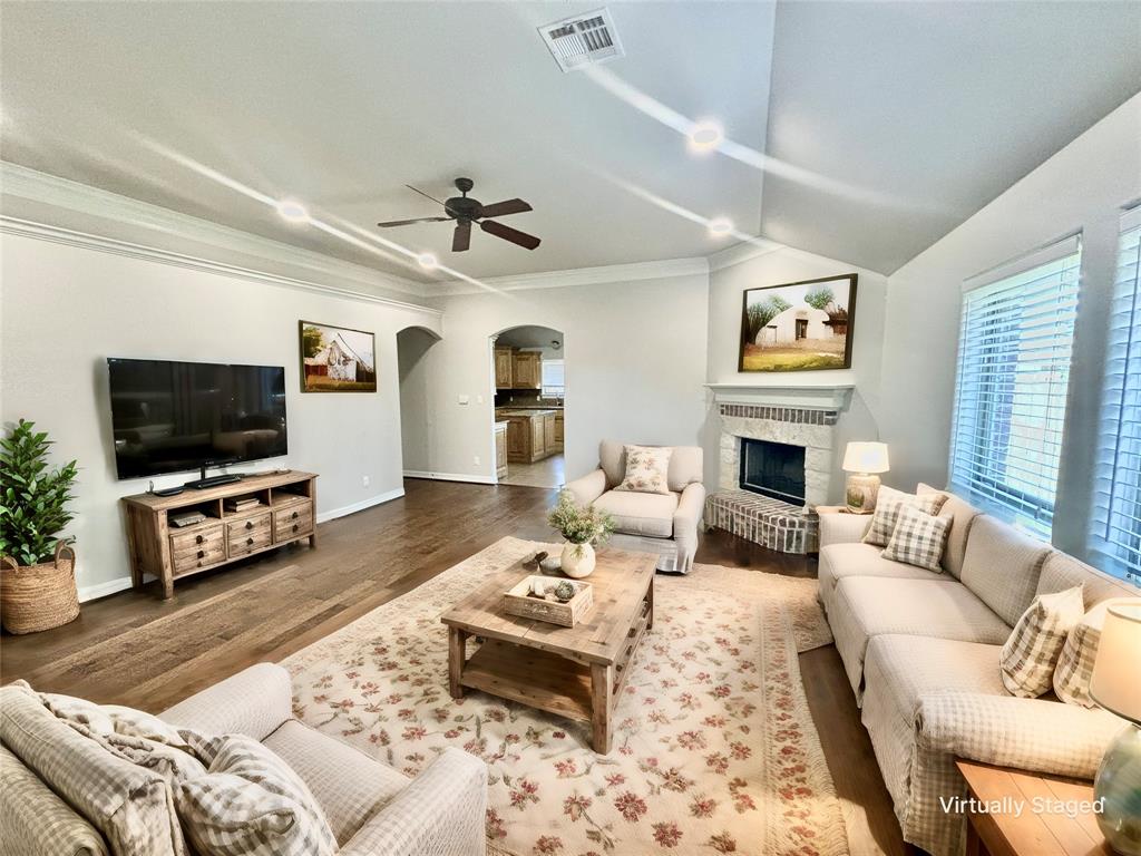
[[1130,720],[1101,759],[1093,796],[1098,825],[1123,856],[1141,856],[1141,599],[1110,606],[1098,643],[1090,695]]

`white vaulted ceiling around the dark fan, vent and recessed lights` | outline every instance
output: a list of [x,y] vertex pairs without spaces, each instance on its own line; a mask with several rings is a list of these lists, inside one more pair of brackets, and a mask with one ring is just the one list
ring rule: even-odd
[[[1139,3],[615,2],[625,56],[564,74],[536,26],[592,8],[5,3],[0,156],[413,280],[370,236],[477,277],[746,235],[890,273],[1141,86]],[[375,228],[461,175],[542,245]]]

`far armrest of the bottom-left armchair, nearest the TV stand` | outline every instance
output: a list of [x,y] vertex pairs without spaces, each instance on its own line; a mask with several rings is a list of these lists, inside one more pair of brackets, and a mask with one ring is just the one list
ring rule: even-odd
[[251,665],[159,714],[203,734],[244,734],[258,742],[292,716],[293,684],[274,663]]

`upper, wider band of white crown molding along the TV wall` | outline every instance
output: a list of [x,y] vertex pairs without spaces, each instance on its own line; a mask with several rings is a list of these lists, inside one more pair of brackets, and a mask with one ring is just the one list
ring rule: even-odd
[[[382,273],[365,265],[346,261],[301,247],[293,247],[230,226],[222,226],[200,217],[172,211],[169,208],[91,187],[67,178],[59,178],[8,161],[0,161],[0,193],[6,197],[24,199],[88,216],[103,217],[136,228],[178,235],[181,239],[216,247],[220,250],[241,252],[277,264],[304,268],[307,275],[313,273],[335,276],[363,285],[414,294],[419,298],[427,296],[424,283]],[[49,224],[40,225],[49,226]]]

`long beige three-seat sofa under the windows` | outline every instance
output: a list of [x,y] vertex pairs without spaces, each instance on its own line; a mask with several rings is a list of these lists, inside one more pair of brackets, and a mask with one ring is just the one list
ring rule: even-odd
[[[933,488],[920,485],[919,492]],[[872,738],[904,840],[957,856],[969,758],[1092,778],[1124,727],[1099,709],[1011,695],[1000,652],[1039,593],[1083,584],[1085,608],[1141,590],[980,514],[954,494],[940,572],[883,558],[861,542],[871,517],[820,515],[819,600]]]

